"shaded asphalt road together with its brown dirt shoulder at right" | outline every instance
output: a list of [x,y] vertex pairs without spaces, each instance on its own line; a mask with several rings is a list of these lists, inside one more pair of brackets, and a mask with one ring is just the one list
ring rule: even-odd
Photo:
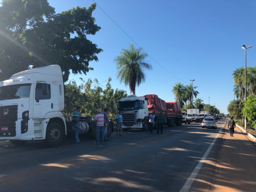
[[225,122],[112,133],[103,145],[0,146],[0,191],[255,191],[256,147]]

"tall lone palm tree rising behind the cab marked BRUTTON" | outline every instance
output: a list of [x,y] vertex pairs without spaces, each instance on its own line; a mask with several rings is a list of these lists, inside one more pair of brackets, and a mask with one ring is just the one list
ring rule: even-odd
[[133,44],[129,49],[122,49],[114,59],[117,65],[117,79],[124,85],[129,85],[130,93],[135,95],[135,87],[146,81],[144,69],[151,70],[152,66],[145,61],[148,54],[142,53],[142,48],[134,48]]

